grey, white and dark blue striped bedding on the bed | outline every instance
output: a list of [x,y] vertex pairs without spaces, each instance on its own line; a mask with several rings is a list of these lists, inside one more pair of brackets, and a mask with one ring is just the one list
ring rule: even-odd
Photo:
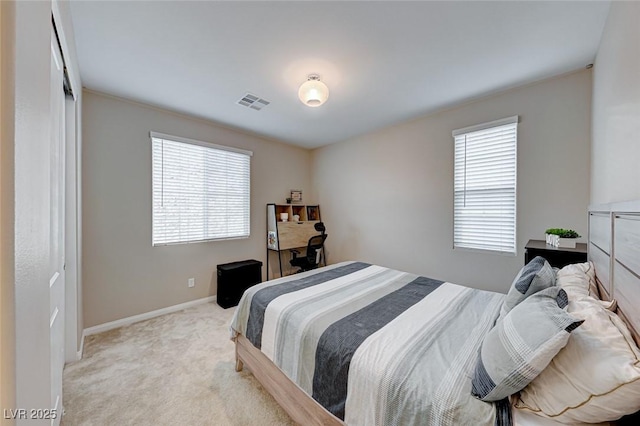
[[251,287],[231,332],[348,425],[507,425],[470,392],[503,298],[343,262]]

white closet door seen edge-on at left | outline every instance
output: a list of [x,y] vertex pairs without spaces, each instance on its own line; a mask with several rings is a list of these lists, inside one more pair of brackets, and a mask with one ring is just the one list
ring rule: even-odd
[[51,30],[51,273],[49,279],[49,327],[51,357],[52,425],[62,417],[62,370],[64,368],[64,75],[62,55]]

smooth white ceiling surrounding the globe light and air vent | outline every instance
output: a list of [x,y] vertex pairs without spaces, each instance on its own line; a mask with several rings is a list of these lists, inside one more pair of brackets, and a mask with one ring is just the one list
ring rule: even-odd
[[[315,148],[584,68],[608,1],[72,1],[89,89]],[[319,74],[329,100],[298,99]],[[271,103],[236,102],[252,93]]]

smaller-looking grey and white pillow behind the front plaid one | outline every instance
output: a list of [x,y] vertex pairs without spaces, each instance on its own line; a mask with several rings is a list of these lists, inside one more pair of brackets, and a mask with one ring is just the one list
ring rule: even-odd
[[540,290],[553,287],[555,282],[556,274],[549,262],[543,257],[535,257],[520,269],[511,283],[509,293],[507,293],[500,310],[500,319],[504,318],[518,303]]

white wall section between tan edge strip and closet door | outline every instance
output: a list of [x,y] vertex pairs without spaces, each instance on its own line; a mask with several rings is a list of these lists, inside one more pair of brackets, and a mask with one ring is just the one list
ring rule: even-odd
[[49,408],[51,2],[16,2],[14,25],[14,267],[19,356],[15,359],[16,405],[9,408]]

